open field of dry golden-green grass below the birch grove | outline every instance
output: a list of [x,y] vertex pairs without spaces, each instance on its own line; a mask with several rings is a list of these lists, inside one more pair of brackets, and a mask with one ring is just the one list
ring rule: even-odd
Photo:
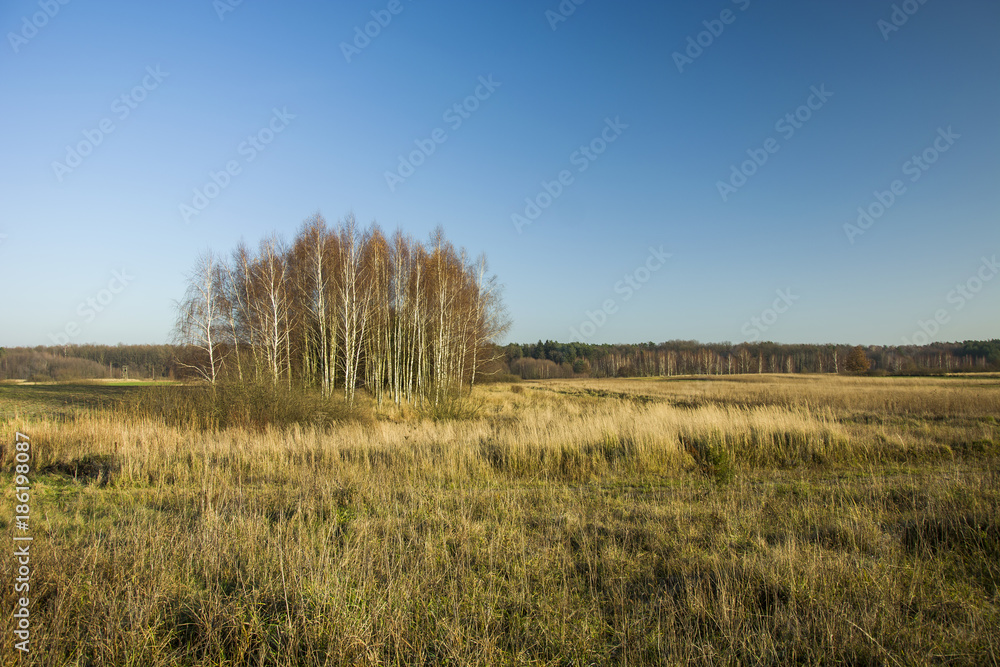
[[0,385],[35,538],[0,663],[1000,663],[995,376],[523,382],[263,430],[112,407],[138,390]]

